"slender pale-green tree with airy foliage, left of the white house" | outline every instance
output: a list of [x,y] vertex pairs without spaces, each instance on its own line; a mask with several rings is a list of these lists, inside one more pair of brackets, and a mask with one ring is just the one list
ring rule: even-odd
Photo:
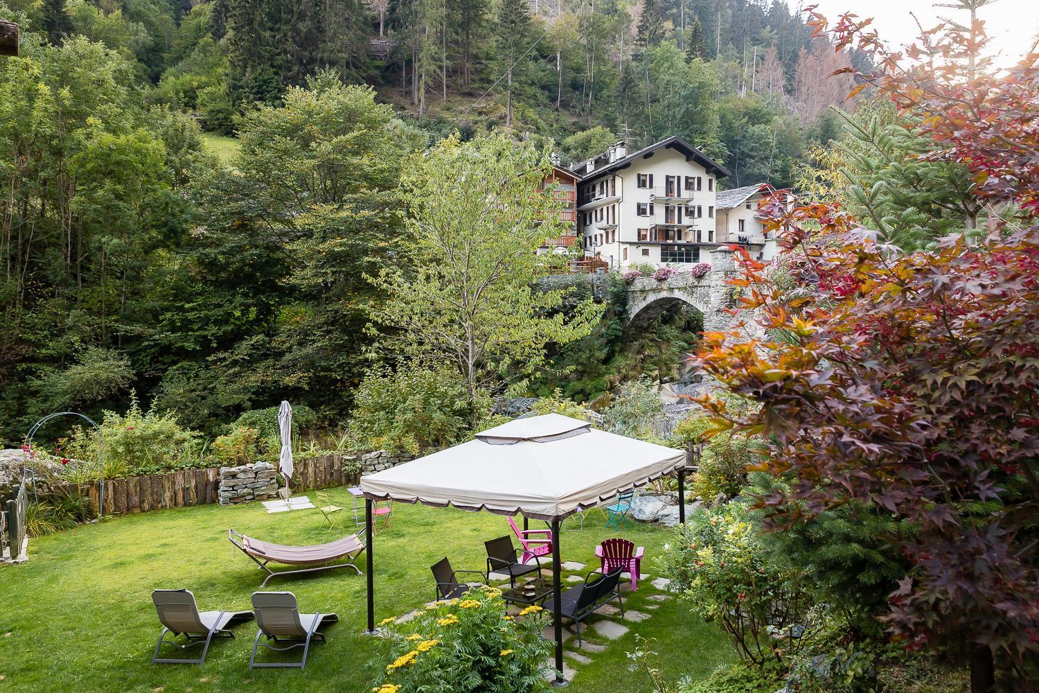
[[550,170],[547,152],[501,135],[449,137],[405,167],[409,247],[370,277],[388,294],[373,317],[396,328],[384,344],[395,354],[456,368],[471,402],[522,387],[550,343],[587,336],[602,313],[534,287],[551,261],[536,250],[564,226],[541,189]]

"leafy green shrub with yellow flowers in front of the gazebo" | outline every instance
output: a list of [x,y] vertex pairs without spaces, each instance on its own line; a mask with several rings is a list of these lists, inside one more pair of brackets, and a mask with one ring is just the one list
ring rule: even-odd
[[[460,599],[438,602],[400,625],[385,619],[393,645],[385,671],[372,690],[452,693],[533,693],[548,690],[542,677],[552,643],[529,613],[505,616],[501,590],[480,587]],[[527,610],[525,610],[527,611]],[[527,617],[530,616],[530,617]]]

